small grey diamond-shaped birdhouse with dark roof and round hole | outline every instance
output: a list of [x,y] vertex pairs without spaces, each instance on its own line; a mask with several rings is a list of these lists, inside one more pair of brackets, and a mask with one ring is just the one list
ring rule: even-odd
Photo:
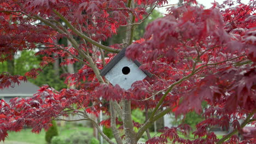
[[141,81],[145,77],[152,77],[148,71],[139,69],[141,63],[132,61],[125,57],[126,48],[121,50],[102,70],[101,76],[112,83],[112,85],[119,85],[121,88],[129,89],[135,81]]

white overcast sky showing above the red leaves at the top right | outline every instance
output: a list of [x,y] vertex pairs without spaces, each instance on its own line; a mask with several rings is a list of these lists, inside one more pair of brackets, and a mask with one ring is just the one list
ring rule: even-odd
[[[218,2],[219,4],[222,4],[224,1],[226,0],[215,0],[216,2]],[[168,4],[177,4],[179,2],[179,0],[168,0]],[[205,8],[211,8],[212,4],[214,0],[197,0],[197,3],[202,4],[205,6]],[[242,3],[248,4],[249,0],[241,0]],[[166,8],[158,8],[157,10],[160,11],[160,13],[162,14],[166,14]]]

